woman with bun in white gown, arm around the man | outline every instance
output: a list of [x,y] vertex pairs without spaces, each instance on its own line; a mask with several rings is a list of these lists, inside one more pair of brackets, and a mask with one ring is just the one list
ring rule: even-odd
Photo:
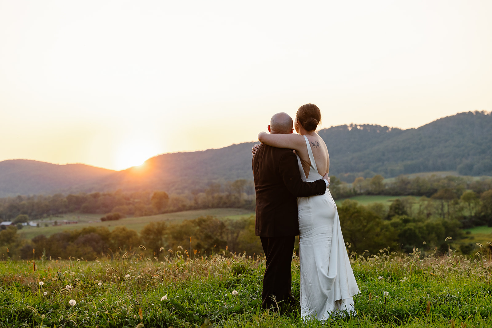
[[[264,144],[294,149],[304,181],[322,179],[330,170],[325,142],[315,132],[321,121],[316,105],[299,107],[294,127],[299,134],[260,132]],[[257,145],[253,147],[256,152]],[[353,296],[359,293],[340,229],[337,205],[330,191],[297,199],[301,316],[326,320],[339,311],[355,314]]]

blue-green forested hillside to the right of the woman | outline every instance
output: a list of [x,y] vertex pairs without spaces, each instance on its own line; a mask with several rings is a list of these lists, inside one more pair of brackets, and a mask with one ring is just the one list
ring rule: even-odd
[[341,125],[319,134],[330,151],[330,174],[337,176],[366,170],[386,178],[432,171],[492,175],[490,113],[460,113],[417,129]]

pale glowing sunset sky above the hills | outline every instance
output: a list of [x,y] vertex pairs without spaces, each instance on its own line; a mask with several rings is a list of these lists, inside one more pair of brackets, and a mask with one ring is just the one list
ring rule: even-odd
[[492,1],[0,0],[0,161],[114,170],[319,128],[492,110]]

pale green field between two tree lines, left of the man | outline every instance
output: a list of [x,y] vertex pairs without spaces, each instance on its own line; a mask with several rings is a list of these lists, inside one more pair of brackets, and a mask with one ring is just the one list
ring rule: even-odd
[[75,230],[82,229],[85,227],[108,227],[108,229],[112,230],[115,227],[125,226],[128,229],[136,230],[140,232],[144,226],[151,222],[158,221],[166,221],[169,223],[179,223],[183,220],[192,220],[196,219],[200,216],[212,215],[218,218],[231,218],[237,219],[241,217],[249,217],[250,215],[254,215],[254,212],[246,209],[196,209],[196,210],[187,210],[182,212],[175,213],[165,213],[165,214],[157,214],[151,216],[139,216],[139,217],[126,217],[120,219],[118,221],[105,221],[100,222],[101,214],[79,214],[79,213],[69,213],[65,214],[62,217],[53,217],[50,218],[50,221],[58,220],[58,222],[63,222],[63,220],[77,220],[77,224],[62,224],[60,226],[44,226],[44,221],[39,220],[40,227],[23,227],[22,230],[19,230],[19,234],[27,239],[31,239],[37,235],[45,235],[49,237],[57,232],[62,232],[64,230]]

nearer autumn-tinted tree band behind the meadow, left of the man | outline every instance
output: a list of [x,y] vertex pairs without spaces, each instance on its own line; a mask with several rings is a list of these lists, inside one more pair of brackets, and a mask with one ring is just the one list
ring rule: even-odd
[[[171,250],[171,251],[169,251]],[[254,234],[254,217],[219,220],[213,216],[168,224],[152,222],[140,233],[124,226],[87,227],[63,231],[49,237],[38,235],[22,239],[15,226],[0,231],[0,259],[82,259],[95,260],[116,252],[141,251],[162,260],[176,252],[191,257],[219,252],[262,253],[260,239]]]

